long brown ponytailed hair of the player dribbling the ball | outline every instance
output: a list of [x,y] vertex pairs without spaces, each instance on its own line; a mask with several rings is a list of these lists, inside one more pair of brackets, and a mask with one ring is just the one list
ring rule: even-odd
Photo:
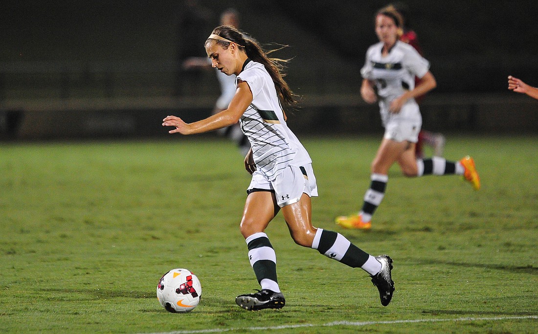
[[[212,34],[219,35],[222,38],[236,43],[239,47],[243,47],[246,55],[251,60],[265,66],[265,69],[273,79],[275,89],[277,89],[280,99],[289,106],[296,106],[298,104],[298,101],[296,100],[297,96],[289,88],[286,81],[284,81],[285,74],[282,71],[285,66],[282,63],[288,62],[288,60],[267,57],[268,54],[280,50],[281,48],[265,52],[255,39],[231,26],[218,26],[213,30]],[[228,48],[230,45],[230,42],[223,40],[208,39],[206,40],[206,46],[208,46],[208,43],[210,42],[216,42],[223,48]]]

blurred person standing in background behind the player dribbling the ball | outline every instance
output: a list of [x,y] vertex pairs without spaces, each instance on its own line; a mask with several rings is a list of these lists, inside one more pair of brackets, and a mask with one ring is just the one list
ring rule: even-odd
[[[239,12],[233,8],[226,9],[221,14],[220,24],[223,26],[231,26],[238,29]],[[211,60],[207,57],[190,57],[183,63],[183,68],[185,69],[210,67]],[[225,75],[217,69],[215,69],[215,72],[217,74],[218,83],[221,87],[221,96],[218,97],[217,101],[215,102],[213,114],[219,113],[227,109],[236,91],[235,75]],[[240,153],[243,156],[248,153],[250,149],[250,143],[240,129],[239,124],[235,124],[223,129],[218,129],[217,134],[229,137],[233,142],[235,142],[239,148]]]

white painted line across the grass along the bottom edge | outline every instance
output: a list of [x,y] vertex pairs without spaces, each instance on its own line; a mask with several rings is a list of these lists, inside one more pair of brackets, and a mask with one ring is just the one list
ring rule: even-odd
[[498,320],[515,320],[515,319],[538,319],[536,315],[529,316],[509,316],[509,317],[467,317],[455,319],[416,319],[416,320],[391,320],[391,321],[334,321],[325,324],[295,324],[295,325],[280,325],[267,327],[247,327],[247,328],[215,328],[215,329],[200,329],[200,330],[180,330],[173,332],[155,332],[148,334],[192,334],[192,333],[222,333],[231,331],[258,331],[258,330],[279,330],[292,329],[303,327],[332,327],[332,326],[367,326],[367,325],[386,325],[386,324],[404,324],[404,323],[420,323],[420,322],[457,322],[457,321],[498,321]]

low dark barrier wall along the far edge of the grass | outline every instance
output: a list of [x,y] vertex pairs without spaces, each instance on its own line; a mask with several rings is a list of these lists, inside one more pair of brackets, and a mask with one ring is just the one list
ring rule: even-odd
[[[186,122],[208,117],[214,98],[34,101],[0,109],[0,139],[100,139],[166,136],[166,115]],[[421,105],[423,128],[461,133],[537,133],[538,102],[526,96],[432,95]],[[361,135],[381,133],[377,105],[354,96],[303,99],[287,113],[296,133]]]

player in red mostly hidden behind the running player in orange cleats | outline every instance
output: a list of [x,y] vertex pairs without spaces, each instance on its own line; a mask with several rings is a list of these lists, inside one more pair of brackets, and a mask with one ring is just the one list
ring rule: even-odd
[[[409,6],[403,2],[394,2],[387,7],[390,8],[392,6],[394,10],[400,13],[402,18],[402,32],[400,36],[400,40],[402,42],[408,43],[410,46],[414,47],[415,50],[421,55],[422,49],[419,45],[419,39],[413,30],[410,20],[409,20]],[[418,85],[420,82],[420,79],[418,77],[415,77],[415,86]],[[417,96],[415,98],[416,103],[420,104],[422,100],[424,99],[425,95]],[[433,155],[442,157],[443,151],[444,151],[444,143],[445,143],[445,137],[440,133],[433,133],[428,130],[421,129],[419,132],[419,141],[416,142],[415,145],[415,155],[417,158],[423,158],[424,157],[424,150],[423,145],[426,144],[433,148]]]

